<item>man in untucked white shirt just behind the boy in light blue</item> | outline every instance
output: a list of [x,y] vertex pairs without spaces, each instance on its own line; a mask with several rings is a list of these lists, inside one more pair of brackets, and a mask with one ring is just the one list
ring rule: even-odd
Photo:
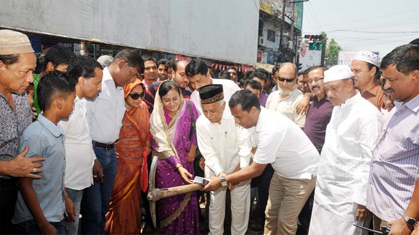
[[76,84],[74,108],[68,120],[61,120],[58,125],[65,134],[65,191],[76,212],[76,215],[68,215],[70,221],[64,221],[64,224],[68,228],[66,234],[77,235],[83,189],[90,187],[94,181],[103,182],[102,166],[93,151],[86,119],[86,99],[95,100],[99,94],[102,66],[91,57],[77,56],[68,64],[68,76]]

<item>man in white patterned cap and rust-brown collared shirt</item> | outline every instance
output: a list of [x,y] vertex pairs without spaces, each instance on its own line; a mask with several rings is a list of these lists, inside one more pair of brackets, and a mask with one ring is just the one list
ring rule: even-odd
[[355,88],[361,92],[361,96],[378,108],[384,109],[383,90],[378,84],[380,70],[378,68],[380,56],[370,51],[358,51],[351,62],[351,70],[354,75]]

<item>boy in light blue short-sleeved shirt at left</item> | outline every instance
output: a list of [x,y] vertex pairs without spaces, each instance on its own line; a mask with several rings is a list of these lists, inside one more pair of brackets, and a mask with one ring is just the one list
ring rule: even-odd
[[39,83],[37,95],[43,114],[23,132],[20,149],[29,146],[26,157],[44,156],[44,172],[34,168],[40,179],[19,179],[12,222],[22,234],[64,234],[66,206],[71,214],[74,206],[64,190],[64,133],[57,123],[73,110],[75,84],[64,73],[48,73]]

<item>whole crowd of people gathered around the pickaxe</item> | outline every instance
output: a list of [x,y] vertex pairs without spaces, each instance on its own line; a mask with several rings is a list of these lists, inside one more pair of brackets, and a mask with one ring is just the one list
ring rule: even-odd
[[1,29],[0,234],[202,234],[200,203],[209,234],[419,234],[419,44],[214,73]]

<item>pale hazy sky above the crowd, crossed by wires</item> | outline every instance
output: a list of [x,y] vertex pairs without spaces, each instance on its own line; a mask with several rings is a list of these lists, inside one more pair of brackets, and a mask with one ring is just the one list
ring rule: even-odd
[[344,51],[368,50],[383,57],[419,38],[419,0],[309,0],[303,36],[325,31]]

